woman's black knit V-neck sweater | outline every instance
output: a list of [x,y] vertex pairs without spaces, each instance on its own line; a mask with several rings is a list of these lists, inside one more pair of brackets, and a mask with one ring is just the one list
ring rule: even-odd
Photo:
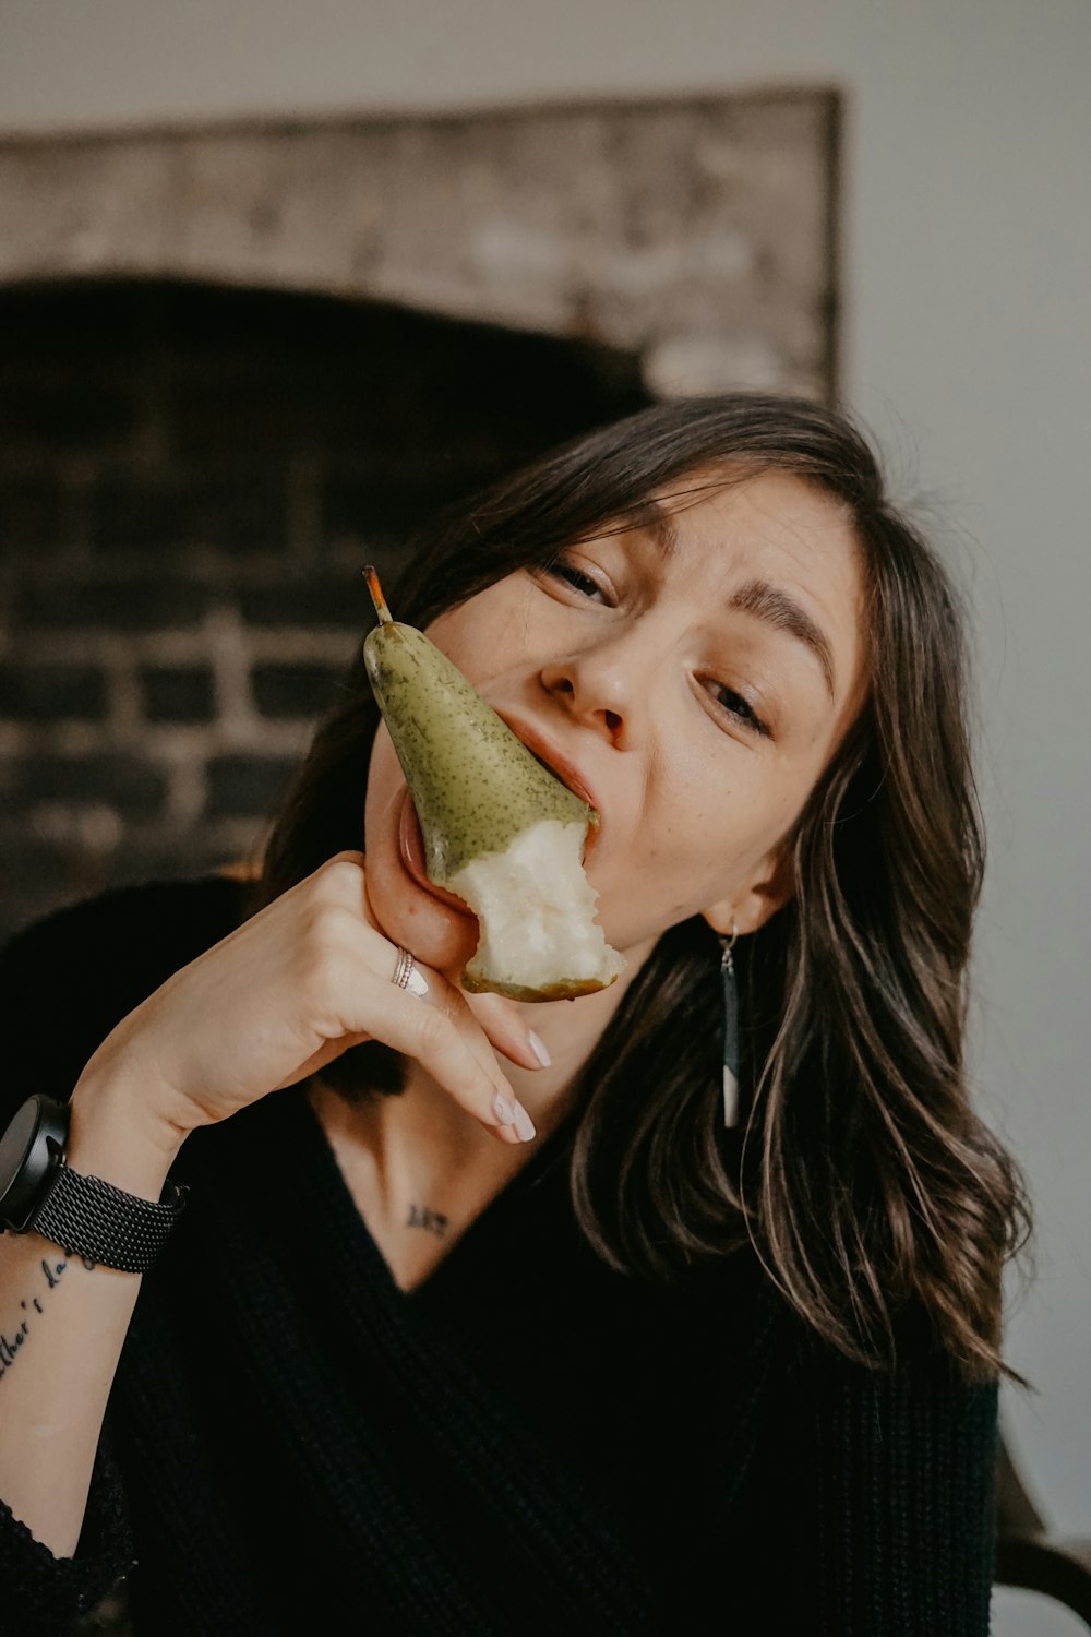
[[[144,887],[18,938],[0,1128],[239,912]],[[301,1089],[190,1138],[75,1557],[0,1499],[3,1632],[61,1637],[121,1575],[139,1637],[986,1632],[996,1391],[823,1354],[748,1254],[612,1272],[571,1134],[411,1295]]]

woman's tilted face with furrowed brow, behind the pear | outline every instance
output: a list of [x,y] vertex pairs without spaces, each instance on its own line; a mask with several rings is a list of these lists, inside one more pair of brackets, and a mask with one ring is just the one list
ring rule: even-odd
[[[640,961],[703,913],[759,927],[792,892],[785,838],[865,694],[859,547],[834,499],[762,473],[520,570],[430,627],[514,732],[600,814],[586,869]],[[368,894],[388,935],[460,969],[478,923],[411,868],[391,738],[375,740]]]

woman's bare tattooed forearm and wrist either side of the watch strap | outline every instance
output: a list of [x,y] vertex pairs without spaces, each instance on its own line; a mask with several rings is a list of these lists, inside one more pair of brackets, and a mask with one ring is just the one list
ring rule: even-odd
[[[116,1085],[80,1085],[67,1161],[157,1200],[173,1154],[126,1107]],[[0,1498],[56,1557],[80,1537],[139,1288],[139,1274],[88,1267],[34,1233],[0,1236]]]

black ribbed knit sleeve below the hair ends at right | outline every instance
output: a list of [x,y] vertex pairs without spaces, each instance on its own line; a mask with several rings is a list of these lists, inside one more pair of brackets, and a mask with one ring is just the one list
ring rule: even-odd
[[831,1372],[819,1390],[821,1630],[986,1637],[996,1385],[954,1367]]

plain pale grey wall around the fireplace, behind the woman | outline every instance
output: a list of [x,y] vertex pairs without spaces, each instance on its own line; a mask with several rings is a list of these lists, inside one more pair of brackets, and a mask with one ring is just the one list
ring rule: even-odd
[[1014,1442],[1091,1532],[1088,0],[0,0],[0,128],[819,80],[849,95],[844,383],[975,581],[977,1066],[1030,1174]]

